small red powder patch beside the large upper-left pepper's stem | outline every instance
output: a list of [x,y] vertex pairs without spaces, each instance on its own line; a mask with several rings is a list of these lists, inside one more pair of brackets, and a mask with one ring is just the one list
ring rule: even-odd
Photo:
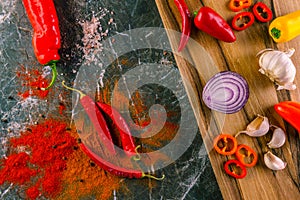
[[17,72],[17,77],[21,80],[21,85],[26,88],[25,91],[19,92],[19,96],[26,99],[30,96],[37,96],[41,99],[47,97],[49,91],[43,91],[41,88],[48,86],[48,80],[42,76],[42,71],[40,69],[31,69],[26,71],[24,66],[21,66],[20,70]]

